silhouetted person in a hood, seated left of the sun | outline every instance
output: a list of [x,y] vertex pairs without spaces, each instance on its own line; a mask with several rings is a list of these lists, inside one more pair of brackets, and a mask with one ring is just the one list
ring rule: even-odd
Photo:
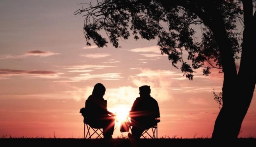
[[[106,88],[103,84],[94,85],[92,95],[85,102],[87,123],[93,128],[103,128],[104,138],[112,138],[115,127],[115,114],[107,110],[107,101],[103,95]],[[109,115],[110,114],[110,115]]]

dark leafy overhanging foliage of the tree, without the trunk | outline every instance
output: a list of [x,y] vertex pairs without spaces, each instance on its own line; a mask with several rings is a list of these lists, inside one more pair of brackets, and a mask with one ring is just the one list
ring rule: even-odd
[[[202,4],[203,3],[203,4]],[[230,40],[232,55],[238,59],[241,50],[241,37],[237,29],[237,21],[242,22],[241,2],[234,0],[99,0],[97,3],[83,3],[88,6],[79,9],[77,14],[84,14],[84,35],[87,45],[93,43],[98,47],[107,46],[108,42],[118,48],[119,39],[157,39],[162,54],[176,68],[180,68],[189,80],[193,79],[196,69],[203,67],[203,75],[209,75],[212,68],[222,69],[220,50],[213,36],[211,25],[214,25],[214,10],[217,6],[221,13],[225,31]],[[200,10],[207,14],[199,16],[194,12]],[[208,20],[202,18],[208,17]],[[195,25],[200,25],[201,38],[195,36]],[[102,37],[104,30],[108,36]],[[188,56],[184,57],[184,52]],[[180,63],[180,67],[179,67]]]

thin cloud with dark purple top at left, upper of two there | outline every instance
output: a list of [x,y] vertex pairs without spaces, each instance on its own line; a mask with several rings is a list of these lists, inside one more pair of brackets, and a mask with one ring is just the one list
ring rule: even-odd
[[54,53],[50,51],[30,50],[23,55],[16,55],[16,56],[10,55],[10,54],[1,55],[0,59],[20,59],[20,58],[26,58],[29,56],[47,57],[47,56],[58,55],[58,54],[59,53]]

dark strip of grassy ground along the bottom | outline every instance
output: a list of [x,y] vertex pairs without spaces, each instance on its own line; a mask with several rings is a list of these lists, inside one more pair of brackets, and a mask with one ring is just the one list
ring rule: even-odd
[[[137,143],[132,143],[129,139],[65,139],[65,138],[2,138],[0,139],[2,145],[15,146],[90,146],[90,147],[130,147],[130,146],[222,146],[229,144],[235,146],[254,146],[256,145],[255,138],[240,138],[237,140],[212,140],[212,139],[140,139]],[[3,147],[3,146],[2,146]]]

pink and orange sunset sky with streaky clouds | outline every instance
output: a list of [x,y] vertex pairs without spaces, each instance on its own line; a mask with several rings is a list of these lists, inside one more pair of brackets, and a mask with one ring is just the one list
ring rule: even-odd
[[[129,111],[139,86],[150,85],[160,109],[158,137],[211,137],[219,112],[212,90],[220,92],[223,74],[203,76],[199,69],[189,81],[161,55],[156,40],[86,46],[84,18],[73,15],[83,2],[1,0],[0,135],[83,137],[79,110],[102,83],[113,112]],[[113,137],[127,135],[118,124]],[[255,128],[254,92],[239,137],[256,137]]]

